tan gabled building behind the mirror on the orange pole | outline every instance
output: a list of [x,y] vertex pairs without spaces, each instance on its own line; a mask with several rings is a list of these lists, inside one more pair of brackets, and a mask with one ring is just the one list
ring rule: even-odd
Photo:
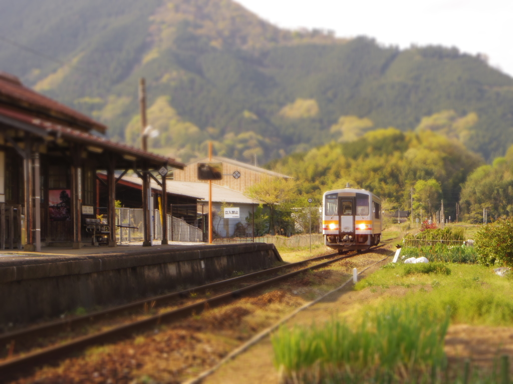
[[[198,163],[208,162],[208,158],[196,160],[186,164],[184,169],[173,170],[173,180],[198,182]],[[245,192],[248,187],[271,178],[293,179],[272,170],[264,169],[242,161],[228,159],[221,156],[212,156],[212,162],[223,164],[223,179],[212,181],[212,184],[220,185],[240,192]],[[208,181],[204,181],[208,183]]]

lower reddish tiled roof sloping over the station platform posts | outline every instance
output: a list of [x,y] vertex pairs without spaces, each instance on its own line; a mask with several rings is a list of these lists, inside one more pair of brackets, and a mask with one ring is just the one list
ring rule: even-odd
[[49,121],[45,121],[42,119],[32,118],[26,114],[23,114],[18,111],[13,111],[10,109],[2,108],[0,106],[0,116],[6,117],[7,119],[11,119],[14,121],[22,122],[25,124],[30,124],[30,126],[38,127],[40,129],[45,130],[48,134],[55,134],[58,137],[62,137],[64,139],[68,139],[73,142],[80,142],[86,145],[96,146],[103,149],[107,149],[112,152],[117,152],[122,155],[130,155],[139,159],[149,160],[152,163],[164,164],[168,163],[170,166],[183,169],[184,164],[178,161],[175,161],[172,158],[164,157],[161,155],[156,155],[150,152],[145,152],[140,150],[139,148],[135,148],[133,146],[124,145],[115,143],[113,141],[107,140],[103,137],[98,137],[91,135],[86,132],[78,131],[76,129],[71,129],[67,126],[57,125],[51,123]]

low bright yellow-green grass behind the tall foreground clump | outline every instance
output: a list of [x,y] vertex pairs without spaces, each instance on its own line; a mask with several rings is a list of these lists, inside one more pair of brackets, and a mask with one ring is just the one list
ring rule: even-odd
[[[407,273],[412,266],[418,265],[421,264],[387,265],[357,283],[355,289],[403,287],[407,289],[404,296],[387,297],[379,305],[386,308],[409,303],[438,315],[450,307],[451,321],[455,323],[511,325],[513,285],[510,279],[497,276],[489,268],[468,264],[447,264],[450,274]],[[431,289],[420,291],[420,287]],[[367,310],[371,308],[373,306]]]

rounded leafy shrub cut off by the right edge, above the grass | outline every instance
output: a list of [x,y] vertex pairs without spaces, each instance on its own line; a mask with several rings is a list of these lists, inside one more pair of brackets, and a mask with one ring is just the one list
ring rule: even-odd
[[513,267],[513,218],[484,225],[474,240],[478,263]]

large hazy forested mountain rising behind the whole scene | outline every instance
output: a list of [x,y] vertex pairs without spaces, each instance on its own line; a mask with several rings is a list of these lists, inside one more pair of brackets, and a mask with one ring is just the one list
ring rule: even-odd
[[[287,31],[230,0],[0,0],[0,70],[154,151],[265,163],[380,127],[434,130],[492,159],[513,143],[513,79],[455,48]],[[15,45],[18,44],[18,45]],[[31,50],[31,52],[29,51]]]

